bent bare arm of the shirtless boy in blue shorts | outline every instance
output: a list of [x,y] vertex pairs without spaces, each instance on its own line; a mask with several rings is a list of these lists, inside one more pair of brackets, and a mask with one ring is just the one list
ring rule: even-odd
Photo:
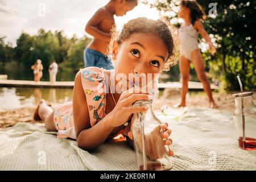
[[97,28],[97,25],[106,17],[106,11],[99,9],[86,24],[85,31],[94,38],[110,41],[110,33],[103,32]]

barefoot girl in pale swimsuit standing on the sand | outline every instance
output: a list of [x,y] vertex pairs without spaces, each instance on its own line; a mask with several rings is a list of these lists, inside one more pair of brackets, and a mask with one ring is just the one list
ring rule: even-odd
[[208,43],[209,50],[214,55],[216,48],[213,46],[209,35],[205,31],[201,19],[205,18],[205,13],[201,6],[195,1],[181,1],[179,17],[184,20],[181,24],[178,36],[180,40],[180,61],[179,68],[182,77],[182,89],[181,89],[181,102],[174,107],[186,106],[186,94],[188,92],[189,81],[189,69],[190,61],[196,69],[196,74],[199,80],[202,82],[204,91],[209,98],[210,107],[216,109],[218,106],[215,104],[212,97],[212,90],[210,84],[205,75],[204,60],[198,47],[198,32],[203,36]]

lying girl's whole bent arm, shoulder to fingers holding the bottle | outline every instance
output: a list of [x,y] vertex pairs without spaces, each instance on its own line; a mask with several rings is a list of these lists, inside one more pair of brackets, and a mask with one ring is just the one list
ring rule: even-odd
[[148,93],[139,88],[131,88],[122,92],[117,105],[100,122],[90,126],[90,117],[84,89],[82,88],[81,72],[75,78],[73,89],[73,118],[77,137],[77,145],[88,151],[100,146],[109,137],[115,127],[123,125],[131,114],[146,111],[144,106],[132,106],[137,100],[149,100]]

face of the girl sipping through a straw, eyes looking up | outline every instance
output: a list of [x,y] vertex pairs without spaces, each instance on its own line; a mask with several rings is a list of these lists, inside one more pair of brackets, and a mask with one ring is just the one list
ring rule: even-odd
[[146,79],[147,85],[150,84],[162,70],[167,57],[166,45],[155,34],[135,33],[121,45],[115,42],[113,45],[115,74],[121,73],[127,78],[123,80],[126,86],[121,86],[122,92],[127,90],[128,86],[131,88],[133,84],[144,87],[142,78]]

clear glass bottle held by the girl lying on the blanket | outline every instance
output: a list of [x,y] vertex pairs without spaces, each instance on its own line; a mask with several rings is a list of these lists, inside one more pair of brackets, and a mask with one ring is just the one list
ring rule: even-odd
[[133,106],[148,106],[143,113],[134,113],[131,126],[138,170],[160,171],[172,168],[167,155],[168,146],[163,142],[162,122],[152,110],[152,100],[138,100]]

